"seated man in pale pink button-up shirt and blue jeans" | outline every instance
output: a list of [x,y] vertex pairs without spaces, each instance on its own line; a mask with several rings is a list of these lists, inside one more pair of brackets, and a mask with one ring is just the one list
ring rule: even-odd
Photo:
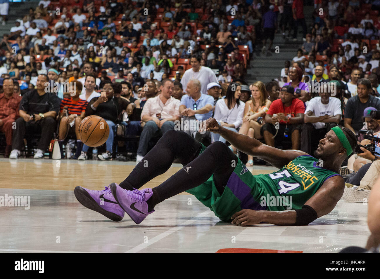
[[146,122],[142,129],[136,164],[148,153],[148,143],[154,136],[162,136],[169,129],[174,129],[174,121],[180,120],[180,101],[172,96],[174,84],[165,79],[160,86],[161,94],[149,98],[141,112],[141,120]]

